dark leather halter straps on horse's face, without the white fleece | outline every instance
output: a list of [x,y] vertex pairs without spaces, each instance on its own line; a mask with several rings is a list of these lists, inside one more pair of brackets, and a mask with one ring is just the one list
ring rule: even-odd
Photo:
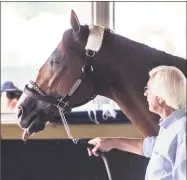
[[[36,83],[33,82],[33,81],[30,81],[32,87],[30,88],[29,85],[27,84],[25,86],[23,92],[25,92],[29,97],[31,97],[33,99],[47,102],[47,103],[52,104],[56,107],[61,107],[62,109],[64,109],[66,107],[70,111],[74,107],[86,104],[90,100],[93,100],[97,95],[96,94],[96,87],[95,87],[95,83],[94,83],[95,81],[94,81],[94,78],[93,78],[93,67],[91,65],[91,60],[93,60],[93,58],[95,57],[95,54],[96,54],[95,51],[86,50],[86,59],[85,59],[84,65],[82,66],[82,73],[81,73],[80,77],[77,79],[77,81],[70,88],[70,90],[66,93],[65,96],[55,97],[55,96],[47,95],[45,92],[41,91],[39,89],[39,87],[36,85]],[[83,76],[85,74],[87,74],[90,77],[91,81],[93,82],[94,90],[86,100],[70,107],[68,101],[71,98],[71,96],[74,94],[74,92],[78,89],[80,84],[82,83]]]

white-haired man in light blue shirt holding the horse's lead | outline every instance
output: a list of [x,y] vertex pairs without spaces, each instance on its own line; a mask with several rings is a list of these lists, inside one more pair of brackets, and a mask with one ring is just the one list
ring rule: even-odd
[[173,66],[159,66],[149,72],[144,95],[149,110],[158,114],[160,131],[157,137],[145,139],[95,138],[95,147],[88,153],[113,148],[150,158],[145,180],[186,179],[186,77]]

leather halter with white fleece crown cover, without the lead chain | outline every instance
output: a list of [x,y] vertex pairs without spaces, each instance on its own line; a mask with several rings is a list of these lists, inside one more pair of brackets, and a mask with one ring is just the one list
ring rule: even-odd
[[[37,84],[33,81],[30,82],[31,87],[27,84],[24,88],[24,92],[30,96],[31,98],[34,98],[36,100],[41,100],[44,102],[47,102],[49,104],[52,104],[56,106],[58,109],[60,108],[61,111],[64,111],[64,108],[68,108],[71,112],[72,108],[81,106],[83,104],[86,104],[90,100],[93,100],[96,97],[96,86],[93,76],[93,66],[91,65],[91,62],[93,61],[96,52],[99,51],[101,48],[102,42],[103,42],[103,36],[104,36],[104,28],[96,25],[90,25],[89,26],[89,35],[87,39],[87,44],[85,46],[86,50],[86,59],[84,62],[84,65],[82,66],[82,73],[79,78],[77,78],[77,81],[72,85],[72,87],[69,89],[69,91],[65,94],[64,97],[54,97],[49,96],[45,92],[41,91],[40,88],[37,86]],[[69,105],[69,99],[70,97],[75,93],[75,91],[78,89],[80,84],[83,81],[83,77],[85,74],[90,77],[92,83],[93,83],[93,92],[91,95],[85,99],[83,102],[74,104],[72,107]]]

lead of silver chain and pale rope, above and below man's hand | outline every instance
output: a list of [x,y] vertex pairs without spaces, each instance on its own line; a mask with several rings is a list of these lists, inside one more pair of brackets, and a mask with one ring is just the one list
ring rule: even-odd
[[[62,119],[62,122],[64,124],[64,128],[66,130],[66,133],[67,133],[68,137],[73,141],[74,144],[78,144],[80,139],[74,138],[73,135],[71,134],[71,131],[70,131],[69,126],[68,126],[68,123],[66,121],[66,117],[64,116],[63,108],[61,108],[59,105],[57,105],[56,107],[59,110],[60,117]],[[108,179],[112,180],[112,176],[111,176],[111,172],[110,172],[110,167],[109,167],[108,161],[107,161],[105,155],[102,152],[100,153],[100,157],[103,159],[103,162],[105,164],[105,168],[106,168],[106,171],[107,171]]]

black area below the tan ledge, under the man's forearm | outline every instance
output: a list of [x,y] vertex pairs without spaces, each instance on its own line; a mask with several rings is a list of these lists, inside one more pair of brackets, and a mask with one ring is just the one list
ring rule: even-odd
[[[113,150],[105,153],[113,180],[144,180],[148,159]],[[101,158],[62,140],[1,141],[2,180],[108,180]]]

